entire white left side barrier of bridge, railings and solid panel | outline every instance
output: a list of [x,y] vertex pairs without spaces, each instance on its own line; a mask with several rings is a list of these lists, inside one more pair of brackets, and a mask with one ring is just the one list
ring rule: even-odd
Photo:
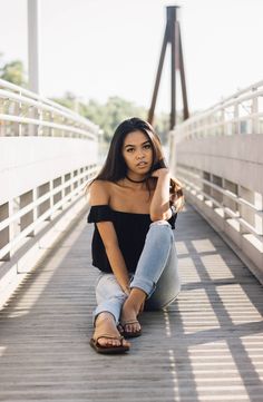
[[17,252],[85,204],[97,173],[98,133],[75,111],[0,79],[0,280]]

